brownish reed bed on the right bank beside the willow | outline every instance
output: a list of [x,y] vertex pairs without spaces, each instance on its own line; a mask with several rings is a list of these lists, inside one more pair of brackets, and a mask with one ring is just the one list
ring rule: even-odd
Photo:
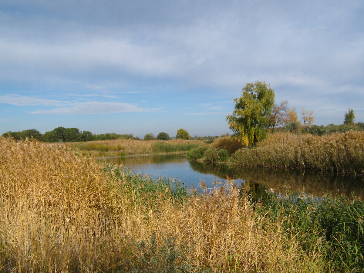
[[297,167],[364,174],[364,132],[326,136],[275,133],[251,149],[232,155],[242,166]]

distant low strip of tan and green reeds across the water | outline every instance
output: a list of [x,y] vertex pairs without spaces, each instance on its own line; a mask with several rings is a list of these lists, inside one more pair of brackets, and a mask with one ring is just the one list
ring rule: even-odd
[[83,155],[95,157],[125,156],[134,154],[165,154],[187,152],[200,145],[206,145],[203,141],[174,139],[163,140],[133,140],[114,139],[106,141],[88,141],[66,143],[68,147],[79,150]]

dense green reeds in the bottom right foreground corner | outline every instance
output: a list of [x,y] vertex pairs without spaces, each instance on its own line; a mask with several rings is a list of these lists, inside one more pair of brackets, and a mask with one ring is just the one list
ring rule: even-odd
[[288,240],[297,241],[307,253],[323,254],[332,272],[363,272],[363,201],[268,196],[256,211],[272,222],[281,221]]

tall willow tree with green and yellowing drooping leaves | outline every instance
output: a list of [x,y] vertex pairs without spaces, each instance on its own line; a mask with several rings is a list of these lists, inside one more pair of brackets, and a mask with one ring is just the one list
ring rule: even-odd
[[227,115],[229,128],[245,146],[266,137],[269,117],[274,105],[274,90],[265,82],[247,83],[242,96],[234,99],[235,110]]

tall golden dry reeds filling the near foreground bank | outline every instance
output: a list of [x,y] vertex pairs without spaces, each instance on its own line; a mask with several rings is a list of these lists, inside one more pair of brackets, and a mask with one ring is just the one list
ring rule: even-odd
[[0,138],[3,272],[325,272],[230,181],[183,185]]

